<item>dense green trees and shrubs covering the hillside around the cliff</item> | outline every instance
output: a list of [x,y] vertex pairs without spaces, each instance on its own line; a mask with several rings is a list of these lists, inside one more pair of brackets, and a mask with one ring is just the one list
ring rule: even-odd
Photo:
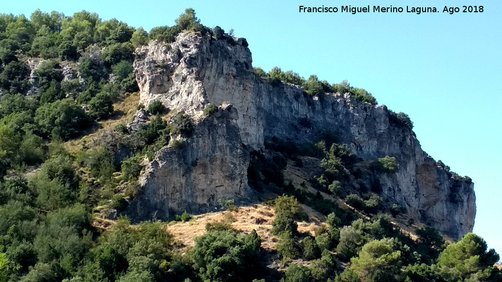
[[[401,207],[384,203],[377,183],[361,177],[395,173],[398,160],[361,162],[332,132],[302,146],[268,140],[266,150],[251,156],[249,184],[283,195],[268,202],[276,210],[271,232],[278,238],[277,253],[267,253],[255,231],[243,234],[220,222],[208,224],[194,247],[181,252],[166,223],[132,225],[125,216],[115,218],[139,192],[142,161],[166,146],[182,148],[182,138],[171,138],[190,136],[193,120],[156,101],[148,107],[150,123],[136,132],[120,123],[99,138],[81,138],[82,148],[72,152],[68,140],[95,132],[116,113],[114,103],[138,91],[134,48],[150,40],[173,42],[184,30],[226,38],[221,28],[201,25],[192,9],[174,26],[149,33],[85,11],[66,17],[37,10],[29,19],[0,15],[0,282],[501,279],[492,266],[498,254],[477,235],[446,246],[430,227],[419,229],[416,241],[402,233],[387,215],[398,216]],[[330,85],[279,68],[255,72],[273,85],[299,85],[312,96],[349,92],[376,104],[370,93],[346,81]],[[209,104],[204,116],[217,110]],[[406,114],[389,113],[395,126],[412,128]],[[283,176],[289,161],[301,167],[304,157],[319,160],[320,174],[309,183],[316,193]],[[341,208],[337,199],[355,210]],[[315,236],[298,230],[297,221],[309,220],[302,204],[326,216]],[[236,209],[231,200],[221,206]],[[97,215],[115,220],[103,227]],[[175,219],[192,217],[185,212]],[[274,273],[265,265],[268,259],[286,270]]]

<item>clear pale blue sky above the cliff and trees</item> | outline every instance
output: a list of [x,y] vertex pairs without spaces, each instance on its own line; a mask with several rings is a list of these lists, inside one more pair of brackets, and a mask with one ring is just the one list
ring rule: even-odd
[[[436,3],[436,5],[435,5]],[[437,5],[440,3],[440,5]],[[502,252],[502,1],[476,14],[301,14],[299,6],[461,7],[458,1],[4,1],[0,13],[87,10],[149,31],[192,7],[208,27],[245,37],[253,65],[331,83],[347,79],[410,115],[422,149],[474,182],[474,232]]]

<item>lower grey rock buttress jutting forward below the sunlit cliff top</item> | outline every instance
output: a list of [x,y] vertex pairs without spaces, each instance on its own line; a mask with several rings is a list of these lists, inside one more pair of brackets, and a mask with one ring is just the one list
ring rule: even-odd
[[249,152],[243,147],[231,106],[201,121],[179,148],[163,148],[141,178],[143,193],[129,206],[136,219],[205,213],[219,199],[246,200]]

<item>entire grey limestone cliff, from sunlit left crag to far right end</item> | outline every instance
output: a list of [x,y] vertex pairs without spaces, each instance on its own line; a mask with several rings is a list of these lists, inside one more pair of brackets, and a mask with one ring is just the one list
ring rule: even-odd
[[142,177],[143,200],[133,204],[145,216],[153,210],[205,211],[220,197],[245,198],[249,150],[260,150],[273,136],[303,143],[333,130],[365,161],[396,157],[400,169],[378,177],[386,201],[454,239],[472,231],[473,184],[437,166],[413,131],[389,122],[386,106],[356,101],[349,93],[313,98],[298,86],[271,85],[255,75],[243,39],[182,33],[174,43],[153,42],[136,53],[145,106],[160,100],[197,117],[207,103],[232,105],[226,115],[203,119],[182,151],[157,154]]

